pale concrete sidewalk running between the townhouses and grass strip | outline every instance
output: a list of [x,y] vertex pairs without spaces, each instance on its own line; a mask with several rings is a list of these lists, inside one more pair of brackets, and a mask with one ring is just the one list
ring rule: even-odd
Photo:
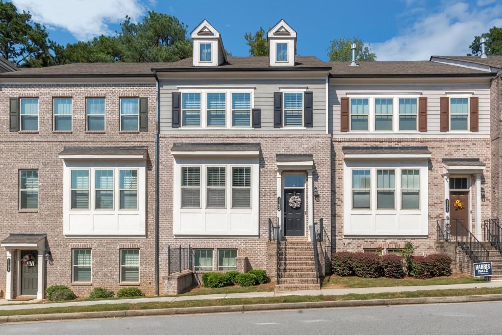
[[330,288],[320,290],[306,291],[288,291],[288,292],[252,292],[252,293],[223,293],[206,295],[187,295],[171,297],[151,297],[137,299],[115,299],[115,300],[93,300],[93,301],[71,301],[55,303],[17,303],[15,305],[5,305],[16,303],[14,301],[0,300],[0,310],[15,309],[34,309],[50,307],[68,307],[68,306],[89,306],[101,304],[117,303],[140,303],[140,302],[159,302],[159,301],[186,301],[186,300],[216,300],[231,298],[259,298],[259,297],[280,297],[285,295],[345,295],[345,294],[366,294],[366,293],[387,293],[387,292],[411,292],[427,290],[448,290],[448,289],[468,289],[481,287],[502,287],[502,281],[492,281],[486,283],[472,284],[454,284],[454,285],[428,285],[428,286],[392,286],[392,287],[365,287],[365,288]]

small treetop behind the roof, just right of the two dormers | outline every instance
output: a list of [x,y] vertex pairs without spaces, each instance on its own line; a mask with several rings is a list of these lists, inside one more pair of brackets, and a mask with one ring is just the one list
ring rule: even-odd
[[353,39],[340,38],[338,40],[331,41],[331,45],[328,48],[328,56],[330,61],[336,62],[349,62],[352,60],[352,50],[351,44],[355,43],[355,60],[361,61],[374,61],[376,60],[376,55],[371,52],[371,46],[367,46],[357,37]]

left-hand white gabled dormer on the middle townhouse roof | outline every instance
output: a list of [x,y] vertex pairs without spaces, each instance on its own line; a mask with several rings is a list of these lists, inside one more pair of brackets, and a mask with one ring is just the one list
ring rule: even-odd
[[226,62],[221,35],[207,20],[203,20],[190,35],[193,66],[218,66]]

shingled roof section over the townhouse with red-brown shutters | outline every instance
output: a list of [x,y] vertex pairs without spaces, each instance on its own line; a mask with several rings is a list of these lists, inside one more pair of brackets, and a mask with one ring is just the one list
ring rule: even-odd
[[475,76],[493,74],[461,66],[431,62],[327,62],[332,77],[427,77],[427,76]]

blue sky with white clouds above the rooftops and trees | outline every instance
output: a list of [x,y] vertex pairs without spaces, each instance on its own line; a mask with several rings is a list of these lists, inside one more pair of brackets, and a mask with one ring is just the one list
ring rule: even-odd
[[[327,60],[329,42],[358,36],[378,60],[420,60],[432,54],[465,55],[475,35],[502,26],[502,0],[359,1],[154,1],[12,0],[50,29],[60,44],[113,34],[126,15],[154,10],[177,17],[190,32],[207,19],[234,56],[247,56],[244,33],[265,30],[281,18],[298,33],[300,55]],[[98,10],[96,10],[96,8]]]

